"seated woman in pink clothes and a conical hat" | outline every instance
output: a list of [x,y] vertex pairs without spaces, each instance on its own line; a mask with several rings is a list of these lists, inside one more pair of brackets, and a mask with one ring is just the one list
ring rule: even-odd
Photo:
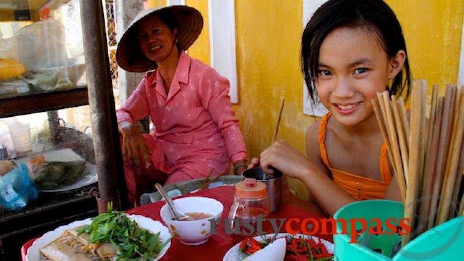
[[[152,191],[154,182],[204,177],[213,167],[214,176],[229,171],[230,162],[235,173],[246,168],[228,80],[185,53],[202,27],[198,10],[169,6],[142,11],[121,37],[119,66],[147,72],[116,112],[130,202]],[[146,115],[153,135],[134,125]]]

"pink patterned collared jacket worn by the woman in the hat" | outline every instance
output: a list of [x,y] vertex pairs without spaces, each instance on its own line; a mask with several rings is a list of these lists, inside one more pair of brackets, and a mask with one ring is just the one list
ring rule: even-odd
[[182,52],[168,94],[161,74],[147,73],[116,115],[118,123],[150,115],[156,126],[155,168],[205,176],[215,167],[217,174],[229,170],[230,161],[247,157],[228,93],[225,77]]

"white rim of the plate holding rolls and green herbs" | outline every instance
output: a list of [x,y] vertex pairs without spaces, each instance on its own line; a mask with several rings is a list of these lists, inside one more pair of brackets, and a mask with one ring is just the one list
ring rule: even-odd
[[[142,215],[127,215],[127,216],[131,220],[136,221],[141,228],[147,229],[151,231],[151,233],[158,233],[158,231],[161,231],[160,239],[162,242],[165,242],[171,236],[171,234],[169,234],[168,232],[168,228],[163,226],[163,224],[161,224],[161,222],[159,221],[152,220]],[[91,222],[92,222],[92,218],[74,221],[74,222],[69,223],[68,225],[58,227],[53,231],[43,234],[42,237],[35,240],[34,243],[31,245],[31,247],[27,249],[26,261],[40,260],[40,249],[44,248],[49,243],[59,238],[66,229],[75,228],[75,227],[82,226],[82,225],[88,225]],[[159,253],[158,257],[154,260],[156,261],[160,259],[166,253],[166,251],[168,251],[168,248],[170,246],[171,246],[171,241],[167,245],[165,245],[163,249],[161,249],[161,252]]]

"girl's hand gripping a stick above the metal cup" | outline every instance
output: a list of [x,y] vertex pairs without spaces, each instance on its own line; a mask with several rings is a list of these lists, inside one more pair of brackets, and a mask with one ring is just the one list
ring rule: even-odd
[[268,169],[272,166],[291,178],[300,178],[300,175],[306,173],[310,164],[305,156],[284,140],[274,142],[261,152],[260,157],[259,161],[263,170],[268,173],[273,172]]

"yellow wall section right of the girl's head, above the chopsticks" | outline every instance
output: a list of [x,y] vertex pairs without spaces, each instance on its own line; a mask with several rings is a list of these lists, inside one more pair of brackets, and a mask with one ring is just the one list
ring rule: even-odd
[[429,86],[439,84],[444,95],[447,83],[457,84],[464,1],[386,2],[403,28],[414,78],[426,79]]

